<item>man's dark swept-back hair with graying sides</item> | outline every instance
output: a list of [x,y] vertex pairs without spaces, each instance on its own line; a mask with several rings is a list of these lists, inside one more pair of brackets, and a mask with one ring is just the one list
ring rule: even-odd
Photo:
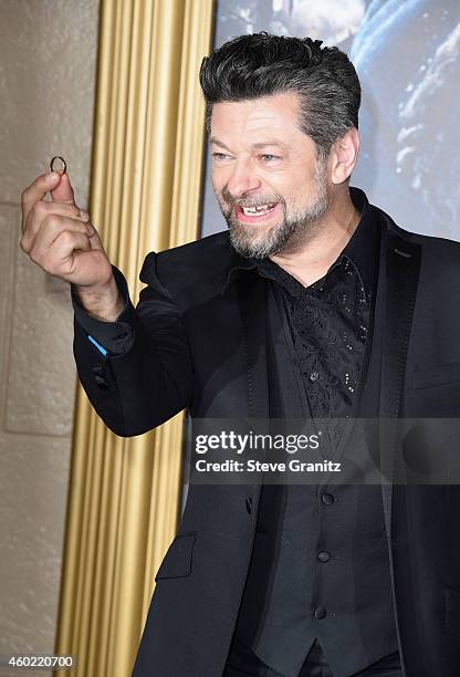
[[328,155],[332,144],[358,127],[360,85],[353,63],[322,40],[240,35],[202,60],[200,85],[208,129],[212,104],[295,92],[301,103],[300,126]]

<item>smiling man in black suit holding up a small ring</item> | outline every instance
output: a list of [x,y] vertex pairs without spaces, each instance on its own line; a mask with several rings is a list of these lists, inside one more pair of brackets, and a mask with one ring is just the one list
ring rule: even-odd
[[[21,247],[72,283],[79,375],[106,425],[139,435],[185,407],[457,417],[460,247],[348,187],[347,56],[244,35],[203,60],[200,84],[229,230],[150,252],[136,309],[88,216],[63,202],[67,178],[23,194]],[[134,675],[458,676],[459,507],[453,486],[191,485]]]

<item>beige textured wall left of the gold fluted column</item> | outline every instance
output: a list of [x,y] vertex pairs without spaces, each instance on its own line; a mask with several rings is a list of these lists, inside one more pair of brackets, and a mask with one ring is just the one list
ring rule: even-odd
[[62,155],[87,208],[97,23],[98,0],[0,0],[0,655],[54,648],[72,306],[19,249],[20,195]]

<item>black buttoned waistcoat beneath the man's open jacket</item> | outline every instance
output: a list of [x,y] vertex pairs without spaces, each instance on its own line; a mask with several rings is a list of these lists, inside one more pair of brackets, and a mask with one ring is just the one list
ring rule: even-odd
[[[310,407],[275,294],[268,283],[270,416],[305,418]],[[362,418],[377,417],[379,404],[380,336],[369,330],[357,393]],[[299,675],[315,638],[334,677],[398,649],[379,485],[262,487],[234,634],[285,677]]]

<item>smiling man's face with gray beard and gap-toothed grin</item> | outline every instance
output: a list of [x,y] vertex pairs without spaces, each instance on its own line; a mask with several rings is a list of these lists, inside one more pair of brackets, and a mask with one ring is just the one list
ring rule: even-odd
[[295,248],[326,212],[326,160],[300,129],[295,94],[215,104],[211,146],[213,189],[243,257]]

